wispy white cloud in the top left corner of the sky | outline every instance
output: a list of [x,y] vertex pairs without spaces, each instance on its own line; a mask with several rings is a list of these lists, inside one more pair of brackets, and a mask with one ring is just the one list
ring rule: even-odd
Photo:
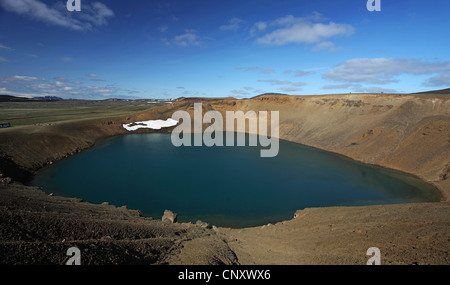
[[71,30],[91,30],[106,25],[107,18],[114,16],[114,12],[100,2],[84,2],[82,13],[67,13],[64,1],[52,7],[39,0],[2,0],[0,5],[9,12]]

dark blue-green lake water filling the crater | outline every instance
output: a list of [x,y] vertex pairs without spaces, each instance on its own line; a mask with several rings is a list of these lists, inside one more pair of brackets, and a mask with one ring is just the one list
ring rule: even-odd
[[306,207],[355,206],[440,199],[400,172],[280,141],[279,154],[260,147],[174,147],[169,134],[131,134],[45,169],[33,182],[48,193],[109,202],[181,222],[244,227],[292,218]]

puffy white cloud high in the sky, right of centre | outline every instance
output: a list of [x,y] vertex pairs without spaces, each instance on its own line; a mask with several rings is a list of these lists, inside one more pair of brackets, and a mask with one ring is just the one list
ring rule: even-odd
[[269,24],[259,22],[258,25],[255,24],[250,34],[254,35],[258,31],[266,32],[269,27],[271,31],[259,36],[256,42],[263,45],[281,46],[290,43],[316,44],[336,36],[349,36],[354,32],[351,25],[334,22],[322,23],[322,21],[323,17],[318,13],[311,17],[288,15]]

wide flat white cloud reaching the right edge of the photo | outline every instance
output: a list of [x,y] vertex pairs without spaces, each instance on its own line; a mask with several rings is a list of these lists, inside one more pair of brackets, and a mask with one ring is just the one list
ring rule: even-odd
[[401,74],[431,74],[450,71],[450,61],[425,62],[414,58],[356,58],[339,63],[322,77],[333,81],[387,84]]

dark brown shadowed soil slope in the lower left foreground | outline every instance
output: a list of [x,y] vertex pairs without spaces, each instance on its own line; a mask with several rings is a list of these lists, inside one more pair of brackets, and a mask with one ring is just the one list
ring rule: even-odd
[[[49,196],[16,183],[0,185],[0,197],[1,264],[63,265],[73,246],[89,265],[237,263],[212,229],[166,224],[136,210]],[[196,250],[186,259],[184,251],[196,241],[207,243],[209,251]]]

